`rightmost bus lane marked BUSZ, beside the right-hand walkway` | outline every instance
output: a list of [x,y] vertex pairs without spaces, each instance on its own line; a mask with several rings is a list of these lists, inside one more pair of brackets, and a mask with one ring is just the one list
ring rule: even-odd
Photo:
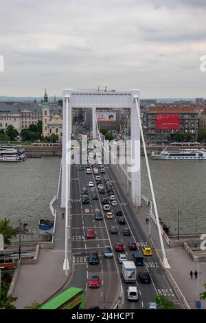
[[[110,168],[108,168],[108,170],[109,169]],[[109,172],[109,174],[111,175],[110,172]],[[120,199],[122,199],[122,201],[126,201],[125,194],[117,182],[114,183],[114,188],[115,188],[116,192],[118,193]],[[122,210],[126,214],[126,219],[128,220],[130,227],[137,227],[138,232],[136,230],[134,231],[134,236],[135,236],[136,241],[143,241],[143,242],[147,243],[147,238],[146,238],[144,232],[138,226],[138,222],[137,222],[135,213],[134,213],[133,209],[130,207],[129,203],[126,203],[126,204],[123,203],[121,206],[122,206]],[[155,256],[153,256],[153,260],[154,261],[152,261],[152,263],[158,263]],[[161,267],[155,266],[153,269],[154,270],[152,270],[152,271],[149,270],[149,271],[150,271],[151,278],[155,284],[155,293],[163,294],[164,296],[167,295],[168,298],[170,298],[172,301],[176,302],[177,300],[176,300],[176,297],[174,296],[174,292],[172,291],[172,288],[170,287],[170,284],[169,284],[167,278],[163,274],[163,270],[161,269]]]

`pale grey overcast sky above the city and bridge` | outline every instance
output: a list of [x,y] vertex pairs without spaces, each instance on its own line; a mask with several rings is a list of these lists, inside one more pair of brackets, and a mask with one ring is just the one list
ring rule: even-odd
[[0,96],[206,97],[205,0],[0,0]]

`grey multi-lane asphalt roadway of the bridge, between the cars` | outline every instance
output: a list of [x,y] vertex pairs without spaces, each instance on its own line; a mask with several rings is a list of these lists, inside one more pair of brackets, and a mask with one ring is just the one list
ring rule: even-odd
[[[80,153],[80,150],[78,153]],[[114,251],[114,245],[115,243],[124,243],[128,260],[132,260],[133,251],[128,249],[128,242],[135,241],[138,250],[141,251],[141,246],[148,245],[148,241],[144,232],[139,227],[133,208],[130,207],[124,190],[119,185],[115,173],[111,170],[110,166],[105,165],[105,173],[100,174],[99,171],[99,175],[102,179],[104,175],[107,175],[113,184],[118,206],[111,206],[111,210],[114,212],[115,209],[121,208],[126,219],[126,225],[117,224],[118,216],[115,216],[113,219],[106,219],[106,212],[104,212],[100,201],[102,201],[103,197],[108,197],[108,193],[99,194],[92,167],[91,175],[86,173],[86,168],[86,165],[84,165],[84,170],[79,170],[79,165],[71,166],[73,275],[70,282],[70,285],[82,287],[86,291],[85,308],[87,309],[94,304],[98,305],[100,309],[113,308],[121,289],[123,289],[124,309],[146,309],[148,302],[154,301],[155,294],[166,296],[168,300],[177,302],[174,292],[168,280],[165,278],[155,256],[144,257],[144,267],[137,267],[137,273],[139,271],[149,271],[152,282],[150,284],[142,284],[137,277],[136,285],[139,287],[139,301],[128,302],[126,299],[126,287],[134,284],[124,282],[121,274],[121,265],[117,262],[118,253]],[[88,187],[89,181],[93,181],[94,187]],[[102,180],[102,183],[104,183],[104,180]],[[83,186],[89,191],[89,204],[82,205],[81,195]],[[93,192],[98,193],[99,200],[92,199]],[[98,208],[104,215],[102,221],[95,221],[95,208]],[[109,232],[111,225],[118,226],[118,234],[111,234]],[[122,234],[123,227],[130,228],[131,236],[124,236]],[[95,238],[90,240],[86,238],[87,228],[93,228],[95,230]],[[105,245],[111,245],[114,258],[104,258],[103,250]],[[100,263],[98,265],[90,265],[87,261],[88,254],[91,250],[99,252]],[[92,274],[98,274],[100,276],[101,285],[99,289],[89,289],[88,287],[88,279]]]

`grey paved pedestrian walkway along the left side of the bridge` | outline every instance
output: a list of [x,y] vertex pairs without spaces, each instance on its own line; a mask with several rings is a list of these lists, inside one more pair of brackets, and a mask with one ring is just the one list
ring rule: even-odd
[[[16,309],[23,309],[34,300],[39,304],[45,302],[65,284],[68,277],[63,271],[65,258],[65,216],[62,219],[60,198],[55,201],[57,210],[54,249],[40,249],[36,265],[21,265],[18,279],[12,296],[18,299],[14,302]],[[69,271],[70,274],[70,271]]]

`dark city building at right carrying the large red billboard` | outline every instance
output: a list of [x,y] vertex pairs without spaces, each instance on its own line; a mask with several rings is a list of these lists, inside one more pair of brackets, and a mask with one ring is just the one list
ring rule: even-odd
[[190,132],[196,141],[199,118],[200,111],[195,107],[150,107],[143,113],[145,140],[148,144],[168,144],[176,141],[176,132]]

